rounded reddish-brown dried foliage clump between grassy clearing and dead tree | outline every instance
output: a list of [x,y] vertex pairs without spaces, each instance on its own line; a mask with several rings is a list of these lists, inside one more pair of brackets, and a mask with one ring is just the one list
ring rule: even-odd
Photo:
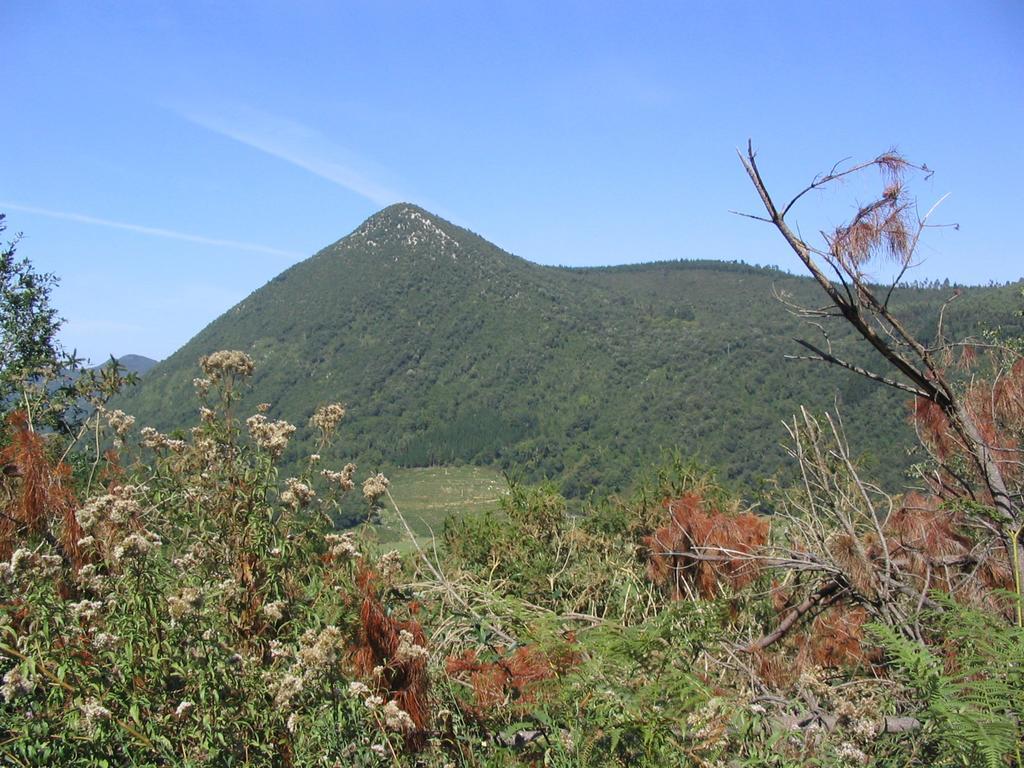
[[647,574],[673,599],[717,597],[722,584],[739,590],[761,572],[757,551],[768,540],[768,520],[750,513],[706,511],[696,494],[667,500],[668,524],[644,538]]

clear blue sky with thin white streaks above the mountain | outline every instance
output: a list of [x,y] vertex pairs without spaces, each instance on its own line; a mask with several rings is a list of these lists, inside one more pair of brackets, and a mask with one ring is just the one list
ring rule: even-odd
[[749,137],[779,197],[898,147],[961,225],[918,276],[1024,276],[1019,0],[5,0],[0,29],[6,234],[94,361],[166,356],[398,201],[541,263],[796,270],[729,213],[757,210]]

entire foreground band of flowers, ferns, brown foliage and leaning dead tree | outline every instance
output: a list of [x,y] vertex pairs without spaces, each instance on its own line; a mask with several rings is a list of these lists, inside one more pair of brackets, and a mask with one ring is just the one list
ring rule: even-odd
[[[898,176],[897,160],[871,166]],[[887,186],[815,252],[868,331],[890,318],[864,248],[912,255],[902,196]],[[1024,359],[1012,340],[941,341],[887,347],[905,368],[879,350],[904,375],[884,378],[916,389],[916,489],[884,493],[839,417],[802,410],[786,441],[800,480],[766,490],[771,516],[679,462],[581,518],[553,488],[513,484],[500,516],[453,517],[407,557],[369,526],[334,528],[360,490],[404,520],[383,475],[334,452],[338,403],[313,413],[301,472],[278,476],[295,426],[240,409],[243,352],[203,358],[199,420],[178,435],[108,410],[114,374],[65,393],[13,365],[0,751],[83,766],[1019,765]],[[84,396],[89,419],[37,428],[33,414]]]

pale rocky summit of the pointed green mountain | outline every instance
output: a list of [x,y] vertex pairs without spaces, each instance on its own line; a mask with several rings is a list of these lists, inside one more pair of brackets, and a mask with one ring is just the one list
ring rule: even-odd
[[[453,237],[457,227],[412,203],[395,203],[378,211],[353,231],[345,242],[386,251],[395,261],[398,249],[423,249],[431,260],[449,256],[459,260],[462,245]],[[398,247],[397,249],[395,247]]]

